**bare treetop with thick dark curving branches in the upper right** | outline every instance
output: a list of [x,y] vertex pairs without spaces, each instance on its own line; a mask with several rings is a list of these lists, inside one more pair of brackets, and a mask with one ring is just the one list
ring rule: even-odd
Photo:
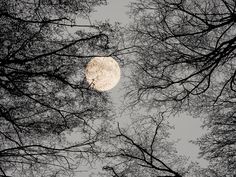
[[[139,98],[187,102],[235,91],[235,2],[160,0],[131,6]],[[134,93],[135,94],[135,93]]]

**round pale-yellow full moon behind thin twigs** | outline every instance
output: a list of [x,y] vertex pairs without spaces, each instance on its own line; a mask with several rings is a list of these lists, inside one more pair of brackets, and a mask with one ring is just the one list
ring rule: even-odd
[[92,88],[107,91],[119,82],[120,67],[112,57],[95,57],[87,64],[85,76]]

